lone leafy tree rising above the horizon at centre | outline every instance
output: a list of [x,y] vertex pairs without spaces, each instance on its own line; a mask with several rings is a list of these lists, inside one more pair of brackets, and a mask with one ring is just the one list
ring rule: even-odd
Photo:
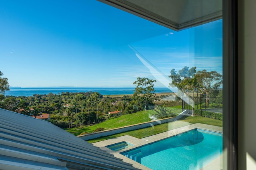
[[138,77],[137,81],[133,83],[136,85],[135,90],[133,90],[133,100],[136,101],[135,103],[138,104],[140,110],[143,108],[146,110],[156,96],[154,93],[154,82],[156,82],[156,80]]

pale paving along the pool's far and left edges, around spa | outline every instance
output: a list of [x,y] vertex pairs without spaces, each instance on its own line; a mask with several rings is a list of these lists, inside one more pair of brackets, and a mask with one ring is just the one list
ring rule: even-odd
[[[159,133],[156,135],[152,135],[149,137],[144,137],[141,139],[138,139],[136,137],[132,137],[129,135],[125,135],[125,136],[116,137],[113,139],[108,139],[105,141],[96,142],[96,143],[93,143],[93,145],[96,147],[99,147],[102,150],[105,150],[107,153],[114,154],[115,157],[121,158],[124,162],[132,164],[135,168],[139,168],[139,169],[143,169],[143,170],[151,170],[150,168],[120,154],[120,152],[124,152],[124,151],[130,150],[130,149],[135,149],[137,147],[141,147],[143,145],[147,145],[152,142],[160,141],[162,139],[172,137],[172,136],[178,135],[180,133],[184,133],[186,131],[191,131],[191,130],[197,129],[197,128],[215,131],[215,132],[219,132],[219,133],[222,133],[222,131],[223,131],[222,127],[206,125],[206,124],[202,124],[202,123],[195,123],[195,124],[185,125],[183,127],[179,127],[176,129],[172,129],[170,131],[162,132],[162,133]],[[134,146],[128,147],[126,149],[118,150],[118,151],[114,151],[114,150],[111,150],[106,147],[108,145],[113,145],[115,143],[119,143],[119,142],[123,142],[123,141],[131,143]]]

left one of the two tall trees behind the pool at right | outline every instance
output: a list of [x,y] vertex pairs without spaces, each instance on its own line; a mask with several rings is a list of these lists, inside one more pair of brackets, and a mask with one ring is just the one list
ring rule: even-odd
[[182,94],[180,94],[180,97],[182,99],[182,108],[184,108],[186,97],[188,96],[188,93],[193,90],[193,82],[195,82],[195,74],[196,74],[196,67],[191,67],[188,69],[187,66],[184,66],[181,70],[178,72],[175,71],[173,68],[170,71],[171,75],[169,76],[172,79],[172,83],[169,85],[172,87],[177,87]]

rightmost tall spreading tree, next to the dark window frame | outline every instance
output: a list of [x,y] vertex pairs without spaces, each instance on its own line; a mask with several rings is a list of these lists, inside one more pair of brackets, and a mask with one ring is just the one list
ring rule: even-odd
[[196,73],[198,81],[198,90],[206,96],[206,104],[209,105],[210,94],[218,95],[218,89],[222,86],[223,79],[222,75],[217,71],[198,71]]

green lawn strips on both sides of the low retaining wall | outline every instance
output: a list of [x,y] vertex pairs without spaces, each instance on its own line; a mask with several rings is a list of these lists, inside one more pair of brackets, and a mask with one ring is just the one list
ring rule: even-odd
[[[178,109],[177,113],[179,113],[180,108],[175,106],[175,107],[171,107],[172,109]],[[168,108],[170,109],[170,108]],[[154,114],[155,111],[154,110],[147,110],[147,111],[139,111],[136,113],[132,113],[129,115],[122,115],[120,117],[112,117],[102,123],[96,124],[96,125],[92,125],[92,126],[84,126],[82,128],[71,128],[71,129],[65,129],[66,131],[74,134],[74,135],[80,135],[81,133],[92,133],[95,131],[95,129],[98,128],[104,128],[105,130],[108,129],[114,129],[114,128],[118,128],[118,127],[124,127],[124,126],[128,126],[128,125],[134,125],[134,124],[138,124],[138,123],[143,123],[143,122],[148,122],[150,121],[150,116],[152,114]],[[208,124],[208,125],[215,125],[215,126],[220,126],[222,127],[222,121],[220,120],[216,120],[216,119],[210,119],[207,117],[200,117],[200,116],[195,116],[195,117],[191,117],[191,116],[184,116],[180,119],[180,121],[183,122],[188,122],[188,123],[204,123],[204,124]],[[175,126],[175,128],[177,128]],[[156,125],[153,127],[148,127],[145,129],[138,129],[138,130],[134,130],[134,131],[128,131],[128,132],[124,132],[124,133],[119,133],[116,135],[111,135],[108,137],[101,137],[99,139],[93,139],[88,141],[89,143],[94,143],[97,141],[102,141],[102,140],[106,140],[106,139],[111,139],[114,137],[119,137],[119,136],[123,136],[123,135],[130,135],[136,138],[143,138],[143,137],[147,137],[150,135],[155,135],[157,133],[162,133],[164,131],[168,131],[170,130],[170,127],[168,127],[168,124],[161,124],[161,125]]]

